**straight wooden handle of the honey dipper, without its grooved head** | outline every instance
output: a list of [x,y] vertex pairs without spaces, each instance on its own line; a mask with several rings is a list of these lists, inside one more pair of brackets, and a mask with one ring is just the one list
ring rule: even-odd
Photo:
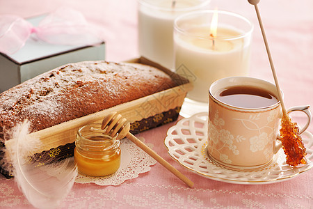
[[154,158],[154,160],[157,160],[157,162],[159,162],[161,165],[163,165],[163,167],[166,167],[166,169],[168,169],[168,171],[172,172],[175,176],[177,176],[177,178],[179,178],[180,180],[182,180],[184,183],[186,183],[186,185],[188,185],[188,187],[193,187],[193,182],[191,180],[189,180],[186,176],[184,176],[184,174],[180,173],[177,169],[175,169],[175,167],[172,167],[171,164],[169,164],[166,160],[164,160],[160,155],[158,155],[156,152],[154,152],[154,150],[152,150],[151,148],[149,148],[148,146],[146,146],[142,141],[140,141],[137,137],[135,137],[133,134],[131,133],[127,133],[126,135],[127,139],[129,139],[130,141],[134,142],[134,144],[136,144],[138,147],[140,147],[142,150],[145,151],[145,153],[147,153],[148,155],[150,155],[151,157]]

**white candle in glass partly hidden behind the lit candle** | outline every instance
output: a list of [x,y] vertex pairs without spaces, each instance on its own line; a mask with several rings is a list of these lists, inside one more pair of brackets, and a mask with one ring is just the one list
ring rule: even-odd
[[138,50],[141,56],[173,69],[173,22],[175,17],[203,8],[210,0],[140,0]]

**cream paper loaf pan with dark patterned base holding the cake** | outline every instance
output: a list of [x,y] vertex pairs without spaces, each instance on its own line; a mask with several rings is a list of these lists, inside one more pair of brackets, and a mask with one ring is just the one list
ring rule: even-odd
[[[131,59],[126,62],[142,63],[159,68],[159,70],[170,75],[177,86],[29,134],[29,137],[40,139],[43,144],[42,148],[34,150],[34,157],[32,159],[38,160],[35,163],[40,165],[40,159],[51,158],[51,162],[55,162],[72,157],[74,155],[74,142],[79,127],[88,123],[102,123],[104,117],[113,111],[127,118],[131,123],[130,132],[132,134],[138,134],[139,132],[177,120],[186,93],[192,89],[192,84],[175,72],[163,68],[161,65],[143,57]],[[5,146],[12,146],[10,140],[6,141]],[[1,173],[8,178],[10,177],[10,173],[4,170]]]

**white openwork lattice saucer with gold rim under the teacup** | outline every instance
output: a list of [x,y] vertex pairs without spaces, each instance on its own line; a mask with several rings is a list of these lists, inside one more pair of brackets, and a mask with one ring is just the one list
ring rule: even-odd
[[298,176],[313,167],[313,135],[301,134],[307,150],[307,164],[291,167],[286,164],[284,150],[280,149],[273,161],[261,169],[238,170],[223,167],[207,155],[207,113],[183,118],[170,127],[164,144],[168,153],[186,169],[200,176],[227,183],[259,185],[278,183]]

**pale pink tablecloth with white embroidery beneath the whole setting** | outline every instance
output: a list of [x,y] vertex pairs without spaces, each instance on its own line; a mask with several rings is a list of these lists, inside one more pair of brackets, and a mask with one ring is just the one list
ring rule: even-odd
[[[80,10],[102,27],[106,60],[138,56],[136,1],[134,0],[0,0],[0,14],[30,17],[59,6]],[[212,0],[209,8],[230,10],[255,23],[250,75],[273,82],[254,8],[248,1]],[[259,3],[273,61],[287,107],[313,104],[313,1],[262,0]],[[295,118],[303,122],[304,116]],[[163,139],[170,123],[139,134],[163,158],[195,183],[188,188],[160,164],[118,186],[74,184],[61,208],[313,208],[313,171],[269,185],[234,185],[210,180],[184,169],[168,155]],[[313,126],[309,127],[313,132]],[[1,208],[31,208],[13,179],[0,177]]]

